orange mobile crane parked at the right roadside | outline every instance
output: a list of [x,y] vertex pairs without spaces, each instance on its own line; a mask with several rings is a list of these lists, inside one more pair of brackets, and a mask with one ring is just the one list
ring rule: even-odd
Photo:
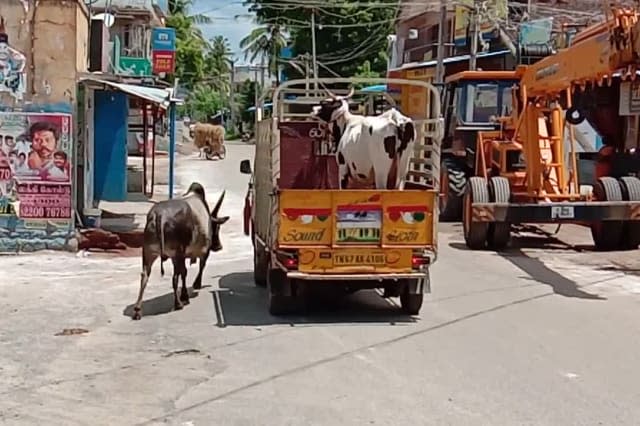
[[[569,47],[516,69],[512,112],[477,133],[462,209],[469,248],[502,249],[520,223],[588,225],[599,250],[640,245],[639,13],[611,6]],[[604,143],[591,173],[573,126],[565,146],[567,124],[584,120]]]

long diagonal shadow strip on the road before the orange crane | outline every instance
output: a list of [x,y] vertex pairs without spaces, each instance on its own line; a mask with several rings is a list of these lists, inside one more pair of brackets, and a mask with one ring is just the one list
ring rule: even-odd
[[[517,238],[514,238],[514,240],[517,240]],[[449,246],[457,250],[469,250],[463,243],[449,243]],[[607,300],[605,297],[582,290],[576,282],[550,269],[539,259],[528,256],[522,249],[518,248],[517,241],[514,241],[513,246],[511,249],[497,252],[497,254],[511,262],[535,281],[550,286],[555,294],[579,299]]]

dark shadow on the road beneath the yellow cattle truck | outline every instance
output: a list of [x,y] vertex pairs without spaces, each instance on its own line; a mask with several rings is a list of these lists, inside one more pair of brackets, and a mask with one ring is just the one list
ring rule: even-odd
[[[327,286],[331,284],[325,284]],[[275,317],[267,310],[267,290],[256,287],[253,272],[239,272],[220,279],[220,294],[226,325],[311,325],[332,323],[413,323],[416,319],[375,291],[341,296],[336,292],[313,291],[300,314]],[[317,290],[317,289],[316,289]]]

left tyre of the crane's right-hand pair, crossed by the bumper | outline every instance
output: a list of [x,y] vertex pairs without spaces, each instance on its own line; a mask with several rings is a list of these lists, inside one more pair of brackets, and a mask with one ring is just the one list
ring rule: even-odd
[[[622,186],[617,179],[604,176],[593,187],[593,195],[598,201],[622,201]],[[591,236],[596,250],[612,251],[620,247],[624,222],[602,220],[591,224]]]

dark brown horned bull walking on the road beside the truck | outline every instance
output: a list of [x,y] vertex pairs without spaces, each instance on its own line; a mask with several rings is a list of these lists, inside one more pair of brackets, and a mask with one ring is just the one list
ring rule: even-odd
[[[198,276],[193,282],[194,289],[202,288],[202,271],[207,263],[210,251],[222,250],[220,226],[229,220],[229,216],[218,217],[224,192],[209,212],[204,188],[192,183],[186,194],[179,198],[161,201],[155,204],[147,214],[142,247],[142,274],[140,292],[134,306],[133,319],[142,317],[142,297],[149,281],[151,267],[160,257],[160,273],[164,276],[163,263],[171,259],[173,263],[174,308],[182,309],[189,303],[187,291],[186,260],[191,264],[200,260]],[[178,297],[178,278],[182,278],[182,290]]]

